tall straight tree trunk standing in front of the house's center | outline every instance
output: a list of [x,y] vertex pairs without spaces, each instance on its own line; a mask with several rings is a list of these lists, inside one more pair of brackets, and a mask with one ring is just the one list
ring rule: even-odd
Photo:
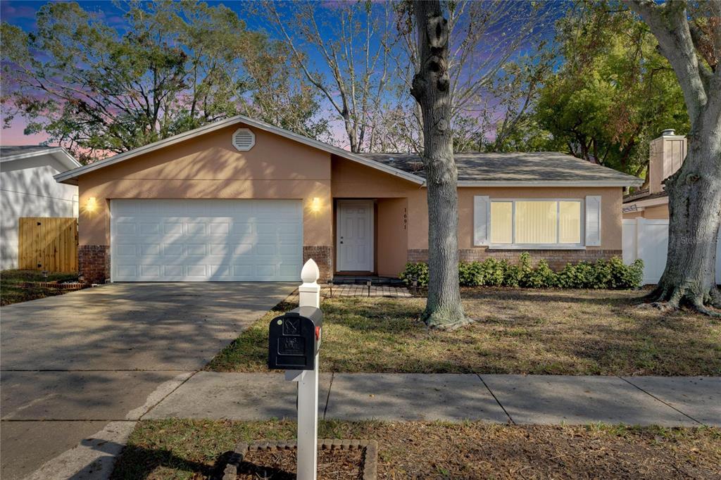
[[468,319],[458,281],[458,171],[451,138],[448,22],[441,3],[414,1],[420,71],[411,94],[423,112],[423,165],[428,187],[428,301],[424,321],[454,329]]

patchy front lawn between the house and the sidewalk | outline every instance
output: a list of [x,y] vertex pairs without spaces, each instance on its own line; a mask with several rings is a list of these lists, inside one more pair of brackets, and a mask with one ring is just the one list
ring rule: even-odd
[[[721,322],[638,308],[643,292],[464,289],[477,322],[455,332],[419,321],[423,298],[332,298],[325,372],[721,375]],[[267,371],[267,325],[281,303],[206,367]]]

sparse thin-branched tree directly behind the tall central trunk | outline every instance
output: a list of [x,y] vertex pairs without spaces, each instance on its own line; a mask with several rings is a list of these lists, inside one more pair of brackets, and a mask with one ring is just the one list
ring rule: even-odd
[[[407,89],[419,68],[415,14],[409,6],[408,1],[394,4],[398,37],[389,50],[394,71]],[[557,10],[542,2],[505,0],[442,1],[441,9],[448,17],[454,146],[456,151],[485,149],[487,137],[497,136],[496,130],[503,130],[503,141],[526,119],[531,105],[526,97],[535,96],[539,79],[551,66],[548,50],[552,45],[542,38],[548,35]],[[404,150],[420,153],[423,125],[417,102],[399,99],[391,114],[386,123],[394,129],[389,135],[400,134]]]

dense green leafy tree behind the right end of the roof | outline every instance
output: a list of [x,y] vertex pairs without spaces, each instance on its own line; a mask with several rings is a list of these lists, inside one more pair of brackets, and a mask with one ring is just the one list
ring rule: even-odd
[[581,2],[558,23],[562,66],[535,106],[541,128],[580,159],[641,175],[648,143],[688,131],[683,94],[653,35],[630,12]]

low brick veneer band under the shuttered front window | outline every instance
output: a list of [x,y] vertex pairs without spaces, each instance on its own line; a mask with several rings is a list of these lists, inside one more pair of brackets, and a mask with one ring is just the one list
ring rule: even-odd
[[[516,263],[523,252],[531,255],[531,262],[534,265],[540,259],[545,259],[553,270],[562,270],[567,263],[593,262],[598,259],[610,259],[623,255],[622,250],[490,250],[478,248],[459,250],[459,259],[461,262],[482,262],[487,258],[495,258]],[[428,262],[428,250],[408,250],[408,261]]]

